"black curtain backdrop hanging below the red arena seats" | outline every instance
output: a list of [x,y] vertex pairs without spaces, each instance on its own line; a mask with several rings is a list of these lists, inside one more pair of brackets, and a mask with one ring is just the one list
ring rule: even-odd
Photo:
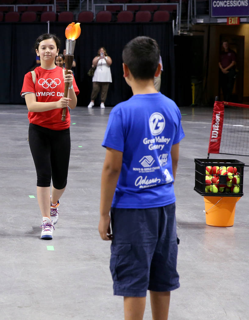
[[[68,23],[50,23],[49,32],[61,39],[60,52],[65,49],[65,29]],[[87,71],[99,47],[104,46],[112,58],[112,84],[109,86],[106,106],[115,106],[132,96],[126,84],[122,69],[124,45],[136,36],[150,36],[157,40],[163,61],[161,92],[174,100],[174,44],[171,23],[81,23],[81,35],[76,40],[74,57],[76,60],[75,78],[79,87],[78,106],[87,106],[92,92],[92,78]],[[38,36],[47,33],[47,23],[1,23],[3,79],[0,93],[2,104],[25,104],[20,97],[25,73],[35,65],[36,54],[33,45]],[[100,103],[99,98],[96,104]]]

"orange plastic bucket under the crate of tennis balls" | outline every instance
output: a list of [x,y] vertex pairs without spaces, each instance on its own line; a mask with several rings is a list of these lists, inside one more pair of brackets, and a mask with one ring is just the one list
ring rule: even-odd
[[206,224],[213,227],[232,227],[236,203],[241,197],[204,197]]

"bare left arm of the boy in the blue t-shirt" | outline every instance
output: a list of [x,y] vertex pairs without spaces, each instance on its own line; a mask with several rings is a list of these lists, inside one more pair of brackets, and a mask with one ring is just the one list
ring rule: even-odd
[[[122,167],[123,152],[106,148],[106,157],[101,175],[99,233],[103,240],[111,240],[110,216],[112,199]],[[107,235],[108,234],[108,235]]]

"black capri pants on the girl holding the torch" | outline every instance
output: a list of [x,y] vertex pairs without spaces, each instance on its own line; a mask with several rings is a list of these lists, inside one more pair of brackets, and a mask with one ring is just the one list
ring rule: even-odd
[[28,140],[37,174],[37,187],[50,187],[51,177],[56,189],[67,185],[70,157],[70,130],[51,130],[29,124]]

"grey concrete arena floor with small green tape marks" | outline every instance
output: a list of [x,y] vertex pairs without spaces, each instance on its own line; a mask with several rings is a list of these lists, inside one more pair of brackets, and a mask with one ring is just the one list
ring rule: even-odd
[[[1,320],[124,318],[123,298],[112,291],[110,242],[102,241],[98,233],[105,156],[101,142],[110,110],[71,111],[68,186],[54,238],[44,241],[27,142],[27,108],[0,106]],[[169,320],[248,320],[248,169],[234,226],[207,226],[203,197],[193,190],[194,158],[207,156],[212,108],[180,110],[186,134],[175,182],[181,287],[172,292]],[[211,158],[248,164],[248,158],[241,156]],[[144,320],[150,319],[148,294]]]

